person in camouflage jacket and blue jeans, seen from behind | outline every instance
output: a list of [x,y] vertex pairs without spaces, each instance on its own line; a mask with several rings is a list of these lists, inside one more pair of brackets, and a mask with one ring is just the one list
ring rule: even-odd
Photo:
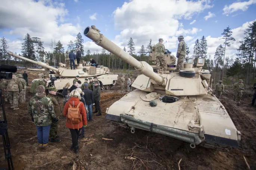
[[46,147],[49,141],[50,125],[58,122],[52,101],[46,97],[44,86],[37,86],[37,93],[28,102],[28,114],[37,128],[39,147]]

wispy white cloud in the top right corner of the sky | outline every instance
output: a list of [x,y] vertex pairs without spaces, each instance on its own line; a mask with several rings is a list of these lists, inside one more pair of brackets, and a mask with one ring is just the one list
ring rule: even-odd
[[238,10],[246,11],[248,7],[252,4],[256,4],[256,0],[249,0],[244,2],[234,2],[230,5],[225,5],[223,8],[223,14],[228,16],[229,14],[236,12]]

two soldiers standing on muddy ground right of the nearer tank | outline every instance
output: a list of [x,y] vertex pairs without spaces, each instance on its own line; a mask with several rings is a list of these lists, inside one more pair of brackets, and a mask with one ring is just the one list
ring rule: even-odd
[[[237,83],[234,84],[234,91],[235,91],[235,96],[234,96],[234,101],[238,103],[241,102],[241,97],[243,95],[243,90],[244,90],[244,84],[243,80],[239,79]],[[224,85],[222,84],[222,80],[219,80],[219,83],[216,84],[215,86],[215,93],[216,97],[220,99],[220,96],[224,92]]]

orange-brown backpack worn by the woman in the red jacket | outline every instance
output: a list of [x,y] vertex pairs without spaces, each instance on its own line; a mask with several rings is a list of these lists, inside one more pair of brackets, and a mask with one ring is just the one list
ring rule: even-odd
[[[79,110],[79,106],[81,103],[82,102],[79,102],[77,106],[71,106],[70,103],[68,103],[69,108],[68,108],[68,116],[66,121],[72,124],[73,129],[74,129],[74,124],[79,124],[80,122],[82,122],[82,115]],[[78,126],[78,130],[79,130],[79,126]]]

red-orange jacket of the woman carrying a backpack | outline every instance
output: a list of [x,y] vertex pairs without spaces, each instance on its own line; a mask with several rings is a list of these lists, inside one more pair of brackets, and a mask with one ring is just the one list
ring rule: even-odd
[[[70,103],[70,105],[73,106],[73,101],[74,101],[74,106],[77,106],[78,103],[80,102],[79,99],[76,98],[76,97],[71,97],[68,100],[68,102],[65,104],[65,107],[64,107],[64,110],[63,110],[63,115],[65,116],[65,118],[68,115],[68,108],[69,108],[69,104],[68,103]],[[79,109],[80,109],[80,113],[82,115],[83,121],[80,122],[79,124],[73,124],[74,127],[72,126],[72,124],[70,124],[70,123],[68,123],[66,121],[67,128],[69,128],[69,129],[78,129],[79,128],[80,129],[80,128],[83,127],[83,125],[87,125],[86,110],[84,108],[83,103],[80,104]]]

